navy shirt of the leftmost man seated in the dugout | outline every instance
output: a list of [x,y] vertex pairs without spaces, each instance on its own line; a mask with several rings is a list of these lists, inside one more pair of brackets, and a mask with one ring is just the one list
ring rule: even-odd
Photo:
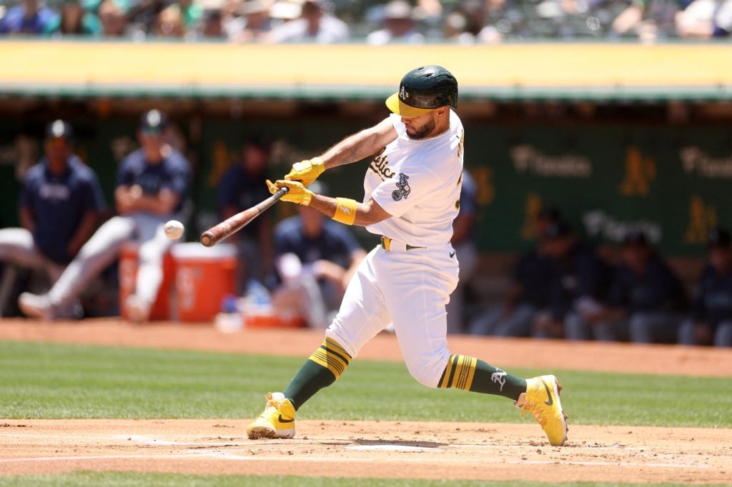
[[68,263],[74,257],[67,254],[68,244],[82,217],[89,211],[101,211],[104,199],[94,171],[77,156],[70,156],[60,175],[51,173],[45,158],[31,167],[19,205],[33,212],[33,238],[40,252],[56,263]]

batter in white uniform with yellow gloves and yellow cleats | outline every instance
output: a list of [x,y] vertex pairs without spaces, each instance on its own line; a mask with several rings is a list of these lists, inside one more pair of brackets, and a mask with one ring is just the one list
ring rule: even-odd
[[[447,349],[445,304],[458,283],[450,245],[463,174],[463,124],[455,113],[458,82],[447,69],[425,66],[401,80],[386,99],[392,115],[346,137],[321,156],[297,162],[271,192],[283,200],[381,235],[346,289],[323,344],[281,393],[266,395],[264,412],[247,428],[252,438],[291,438],[295,412],[335,382],[361,347],[392,322],[411,375],[431,388],[504,396],[531,412],[551,445],[563,445],[567,423],[553,375],[521,379]],[[316,195],[305,186],[324,170],[373,156],[362,202]]]

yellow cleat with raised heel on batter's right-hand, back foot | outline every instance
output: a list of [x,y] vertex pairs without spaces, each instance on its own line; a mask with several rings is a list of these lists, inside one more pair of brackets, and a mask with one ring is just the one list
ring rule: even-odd
[[561,410],[559,401],[561,385],[553,375],[542,375],[526,380],[526,392],[522,393],[516,407],[531,412],[544,429],[553,446],[564,445],[567,441],[567,415]]

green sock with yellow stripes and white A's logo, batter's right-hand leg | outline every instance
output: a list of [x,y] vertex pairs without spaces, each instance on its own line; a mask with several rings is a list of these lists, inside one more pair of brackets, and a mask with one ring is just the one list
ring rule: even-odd
[[515,401],[526,392],[526,380],[468,355],[450,355],[439,387],[494,394]]

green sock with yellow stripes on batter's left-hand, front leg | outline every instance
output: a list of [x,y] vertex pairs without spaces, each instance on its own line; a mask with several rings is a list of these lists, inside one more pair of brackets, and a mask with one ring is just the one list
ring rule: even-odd
[[335,382],[346,371],[350,361],[351,355],[337,341],[326,338],[318,350],[302,364],[283,394],[297,410],[305,401],[315,396],[318,390]]

